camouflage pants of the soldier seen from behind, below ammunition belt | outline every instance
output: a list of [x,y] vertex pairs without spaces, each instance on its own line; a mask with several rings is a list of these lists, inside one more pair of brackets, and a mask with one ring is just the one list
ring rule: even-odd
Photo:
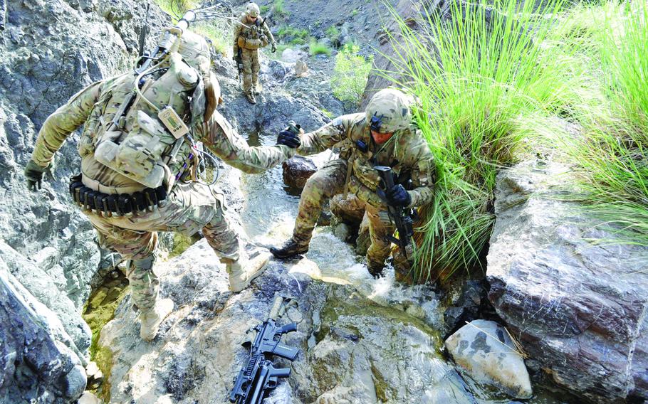
[[[232,262],[239,258],[239,236],[224,214],[221,195],[217,188],[206,184],[177,184],[162,207],[130,218],[84,213],[97,229],[100,245],[129,260],[142,260],[154,255],[158,231],[193,235],[200,229],[221,261]],[[153,307],[160,281],[152,267],[130,265],[127,277],[135,306],[140,310]]]

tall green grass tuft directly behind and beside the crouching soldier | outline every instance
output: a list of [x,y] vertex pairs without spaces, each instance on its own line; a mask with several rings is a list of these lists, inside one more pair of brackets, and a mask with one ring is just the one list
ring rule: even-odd
[[398,75],[383,73],[417,97],[415,119],[437,161],[434,202],[422,208],[415,235],[415,280],[446,280],[481,266],[496,173],[523,147],[520,122],[537,111],[550,115],[574,97],[543,46],[562,6],[453,1],[449,15],[424,11],[417,31],[392,12],[400,29],[387,58]]

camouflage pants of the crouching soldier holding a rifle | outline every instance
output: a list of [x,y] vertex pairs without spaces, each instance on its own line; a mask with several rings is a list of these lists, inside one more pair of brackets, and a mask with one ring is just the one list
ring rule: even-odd
[[[310,243],[323,204],[333,196],[344,192],[346,176],[347,161],[338,159],[329,161],[306,181],[293,230],[293,239],[297,243],[301,245]],[[384,215],[379,214],[380,208],[365,203],[360,198],[350,198],[348,201],[356,203],[358,208],[364,207],[369,219],[371,245],[367,250],[367,265],[373,268],[384,266],[391,250],[391,243],[387,240],[387,236],[394,233],[395,226],[381,218]],[[394,257],[394,260],[401,266],[407,265],[407,259],[401,254]],[[409,265],[407,267],[409,269]]]

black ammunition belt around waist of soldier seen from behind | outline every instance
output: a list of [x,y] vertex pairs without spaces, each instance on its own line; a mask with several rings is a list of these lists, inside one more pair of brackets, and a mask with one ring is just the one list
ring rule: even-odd
[[167,189],[161,185],[134,193],[108,194],[85,186],[81,182],[81,176],[74,176],[70,179],[70,195],[78,206],[88,211],[102,213],[104,216],[125,216],[150,211],[160,205],[160,202],[167,199]]

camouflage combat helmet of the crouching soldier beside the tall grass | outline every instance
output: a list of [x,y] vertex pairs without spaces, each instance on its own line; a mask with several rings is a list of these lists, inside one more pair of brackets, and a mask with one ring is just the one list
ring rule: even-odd
[[371,130],[378,133],[393,133],[407,129],[412,122],[412,98],[395,88],[376,92],[365,113]]

